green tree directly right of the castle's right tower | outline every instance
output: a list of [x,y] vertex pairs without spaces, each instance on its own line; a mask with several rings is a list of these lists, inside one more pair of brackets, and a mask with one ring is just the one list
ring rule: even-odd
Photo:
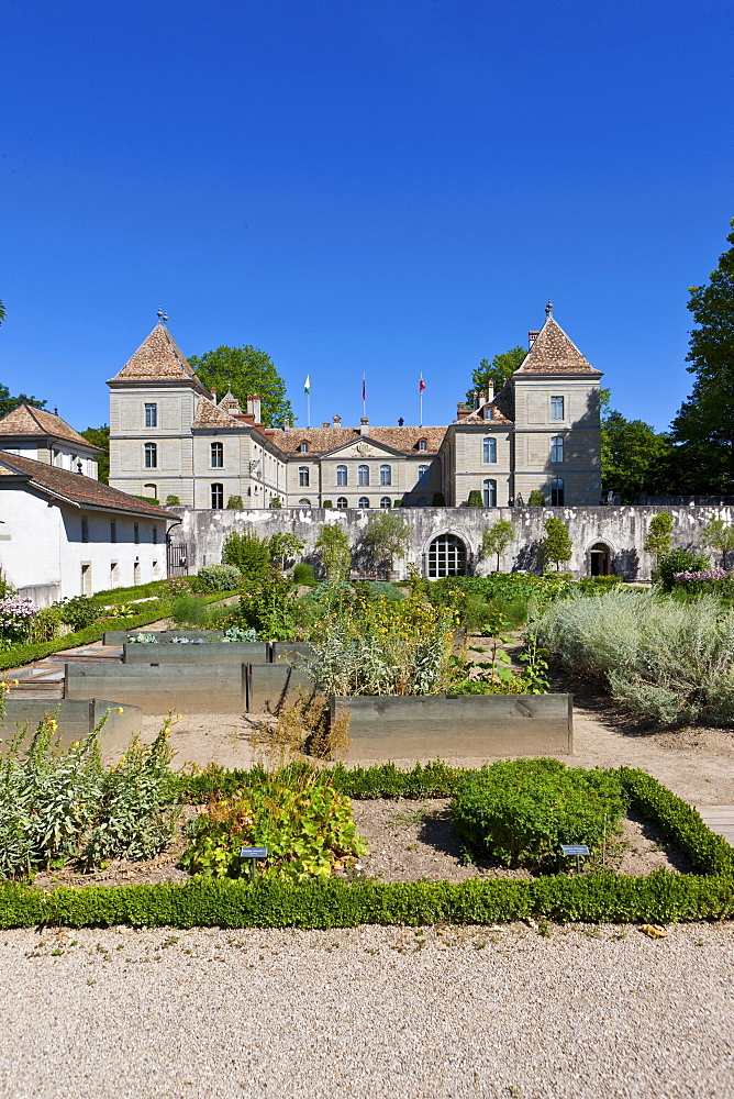
[[669,492],[672,443],[643,420],[626,420],[610,408],[609,389],[601,390],[601,485],[634,503],[638,492]]

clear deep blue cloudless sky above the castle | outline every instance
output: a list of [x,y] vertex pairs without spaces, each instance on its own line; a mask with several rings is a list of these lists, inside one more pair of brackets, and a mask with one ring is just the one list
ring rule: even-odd
[[730,2],[11,0],[0,381],[77,428],[158,306],[305,423],[445,423],[548,297],[615,407],[689,391],[734,217]]

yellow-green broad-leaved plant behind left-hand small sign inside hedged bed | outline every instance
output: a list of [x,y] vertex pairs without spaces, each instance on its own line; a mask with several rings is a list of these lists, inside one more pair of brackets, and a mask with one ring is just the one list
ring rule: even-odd
[[263,877],[330,878],[366,854],[349,799],[315,769],[285,768],[200,817],[182,863],[192,874],[240,877],[243,845],[268,848]]

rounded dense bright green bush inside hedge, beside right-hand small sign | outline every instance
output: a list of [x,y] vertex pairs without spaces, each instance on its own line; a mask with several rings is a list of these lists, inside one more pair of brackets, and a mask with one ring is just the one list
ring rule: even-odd
[[561,843],[600,852],[626,807],[615,771],[513,759],[461,781],[451,814],[474,857],[557,870],[565,866]]

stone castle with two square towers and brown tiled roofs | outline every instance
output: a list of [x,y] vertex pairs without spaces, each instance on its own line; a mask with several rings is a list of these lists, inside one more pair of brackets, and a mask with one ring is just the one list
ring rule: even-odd
[[497,393],[459,403],[446,426],[266,428],[201,384],[159,323],[110,387],[110,485],[193,509],[460,507],[600,502],[599,384],[546,310],[522,366]]

